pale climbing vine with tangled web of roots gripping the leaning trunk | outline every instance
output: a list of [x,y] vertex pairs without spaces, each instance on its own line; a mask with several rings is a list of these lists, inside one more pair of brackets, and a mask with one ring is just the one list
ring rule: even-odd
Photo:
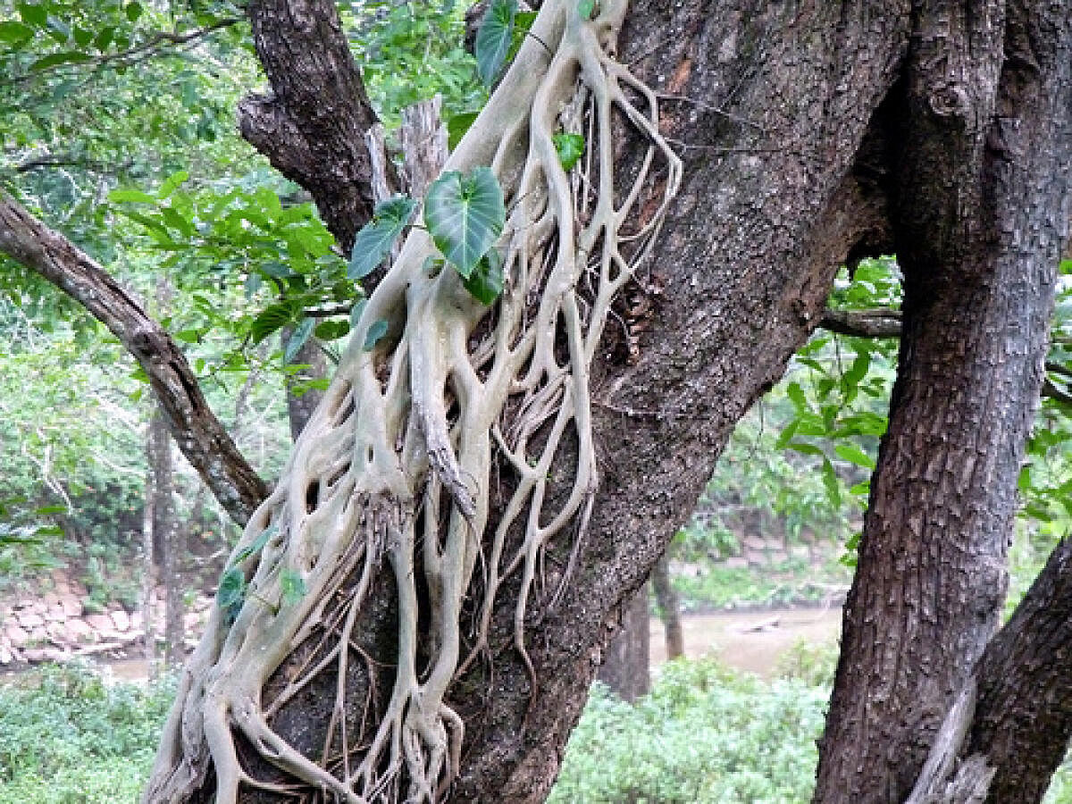
[[[451,241],[437,235],[444,210],[426,203],[426,227],[412,228],[361,309],[338,374],[232,556],[233,589],[183,673],[148,801],[187,801],[210,771],[220,804],[243,787],[352,804],[440,800],[464,740],[447,691],[486,655],[496,597],[515,575],[513,643],[535,688],[524,621],[540,556],[555,536],[583,534],[598,482],[590,367],[681,180],[655,93],[615,60],[626,14],[626,0],[544,4],[438,184],[460,198],[493,178],[505,223],[479,243]],[[622,125],[646,139],[627,176],[615,169]],[[401,207],[392,214],[385,226],[408,220]],[[501,293],[486,286],[496,282]],[[567,448],[576,464],[563,492],[551,476]],[[491,511],[493,466],[512,477]],[[369,702],[349,700],[347,672],[364,662],[371,675],[377,662],[354,629],[383,574],[398,600],[392,684],[355,728],[347,713]],[[568,580],[567,569],[559,583]],[[475,612],[466,640],[463,607]],[[269,685],[301,646],[310,658]],[[314,756],[280,736],[273,717],[329,673],[339,683]],[[239,745],[285,781],[259,777]]]

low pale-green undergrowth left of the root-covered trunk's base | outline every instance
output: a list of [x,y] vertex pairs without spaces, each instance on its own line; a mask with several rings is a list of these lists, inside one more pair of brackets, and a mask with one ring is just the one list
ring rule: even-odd
[[50,668],[0,688],[0,804],[134,802],[174,696]]

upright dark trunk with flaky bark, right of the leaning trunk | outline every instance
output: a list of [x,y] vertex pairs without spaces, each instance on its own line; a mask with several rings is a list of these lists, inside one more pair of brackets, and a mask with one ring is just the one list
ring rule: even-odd
[[972,5],[920,13],[885,104],[904,334],[816,802],[905,800],[1004,599],[1068,217],[1072,36],[1068,9]]

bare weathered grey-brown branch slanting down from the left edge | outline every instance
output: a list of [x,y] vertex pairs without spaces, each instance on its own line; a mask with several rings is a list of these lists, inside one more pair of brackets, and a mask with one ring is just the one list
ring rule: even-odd
[[208,406],[182,351],[92,257],[0,191],[0,252],[88,310],[149,375],[176,443],[227,513],[244,524],[268,490]]

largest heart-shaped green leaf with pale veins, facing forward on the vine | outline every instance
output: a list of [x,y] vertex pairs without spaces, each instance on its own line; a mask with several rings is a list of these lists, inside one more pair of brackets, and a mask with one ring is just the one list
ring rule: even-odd
[[506,223],[503,189],[491,168],[443,174],[428,190],[425,223],[435,245],[467,279]]

